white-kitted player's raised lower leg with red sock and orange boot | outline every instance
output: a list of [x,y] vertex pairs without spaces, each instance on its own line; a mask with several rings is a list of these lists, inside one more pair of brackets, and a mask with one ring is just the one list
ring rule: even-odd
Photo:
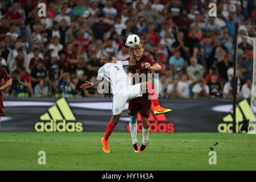
[[148,94],[151,97],[156,97],[156,98],[152,99],[152,103],[154,105],[154,113],[156,115],[157,114],[166,114],[166,113],[172,111],[171,109],[167,109],[167,108],[160,106],[157,93],[155,92],[155,85],[152,81],[148,81]]

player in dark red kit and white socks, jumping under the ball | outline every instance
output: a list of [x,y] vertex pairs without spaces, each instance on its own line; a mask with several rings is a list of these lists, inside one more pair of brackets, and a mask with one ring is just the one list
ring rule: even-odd
[[[150,57],[143,55],[144,47],[143,43],[141,42],[138,47],[133,49],[133,53],[136,59],[136,65],[131,68],[131,73],[135,76],[141,75],[144,73],[146,76],[151,71],[160,71],[162,68],[161,66],[152,60]],[[130,60],[128,57],[126,60]],[[135,79],[133,78],[132,84],[137,84],[134,82]],[[139,81],[139,80],[138,80]],[[151,88],[154,89],[154,84],[151,82]],[[154,95],[155,93],[150,93],[150,95]],[[152,102],[155,106],[155,114],[164,114],[171,111],[171,109],[166,109],[159,105],[158,98],[152,99]],[[148,117],[150,117],[150,108],[151,108],[151,100],[148,98],[148,93],[144,93],[142,97],[134,98],[133,100],[129,101],[129,109],[128,114],[130,115],[130,133],[131,139],[133,141],[133,147],[135,152],[143,152],[148,143],[148,134],[150,131],[150,122],[148,121]],[[137,117],[138,111],[141,113],[142,119],[142,145],[141,148],[138,147],[137,142]]]

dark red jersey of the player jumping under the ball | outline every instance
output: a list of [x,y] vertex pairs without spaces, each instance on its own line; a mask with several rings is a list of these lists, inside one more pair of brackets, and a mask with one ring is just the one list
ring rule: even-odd
[[[128,57],[126,60],[130,61],[130,57]],[[133,85],[138,84],[138,82],[135,82],[135,76],[136,75],[141,75],[141,73],[144,73],[146,75],[146,78],[147,78],[147,74],[151,73],[150,69],[145,68],[145,63],[146,62],[149,63],[151,65],[151,67],[152,67],[152,65],[156,64],[156,62],[154,60],[152,60],[149,56],[143,55],[140,60],[136,61],[135,66],[130,67],[131,68],[131,73],[134,74],[133,83],[132,83]],[[135,73],[137,73],[137,74],[135,75]],[[139,82],[142,82],[142,80],[139,79]]]

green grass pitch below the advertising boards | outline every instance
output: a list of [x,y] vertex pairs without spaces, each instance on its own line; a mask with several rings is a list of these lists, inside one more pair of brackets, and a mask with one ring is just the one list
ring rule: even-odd
[[[135,153],[130,133],[113,132],[109,154],[103,135],[1,132],[0,170],[256,170],[256,135],[150,133],[147,150]],[[216,165],[208,163],[210,147]],[[38,164],[39,151],[46,152],[46,165]]]

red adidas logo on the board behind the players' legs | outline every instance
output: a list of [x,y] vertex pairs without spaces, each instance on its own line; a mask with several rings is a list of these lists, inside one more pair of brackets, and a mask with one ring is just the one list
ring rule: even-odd
[[[138,113],[138,132],[142,132],[142,122],[141,114]],[[150,122],[150,132],[160,132],[160,133],[172,133],[175,131],[174,123],[167,122],[165,114],[155,115],[154,114],[154,105],[151,106],[150,117],[148,118]],[[130,125],[127,125],[127,131],[130,132]]]

